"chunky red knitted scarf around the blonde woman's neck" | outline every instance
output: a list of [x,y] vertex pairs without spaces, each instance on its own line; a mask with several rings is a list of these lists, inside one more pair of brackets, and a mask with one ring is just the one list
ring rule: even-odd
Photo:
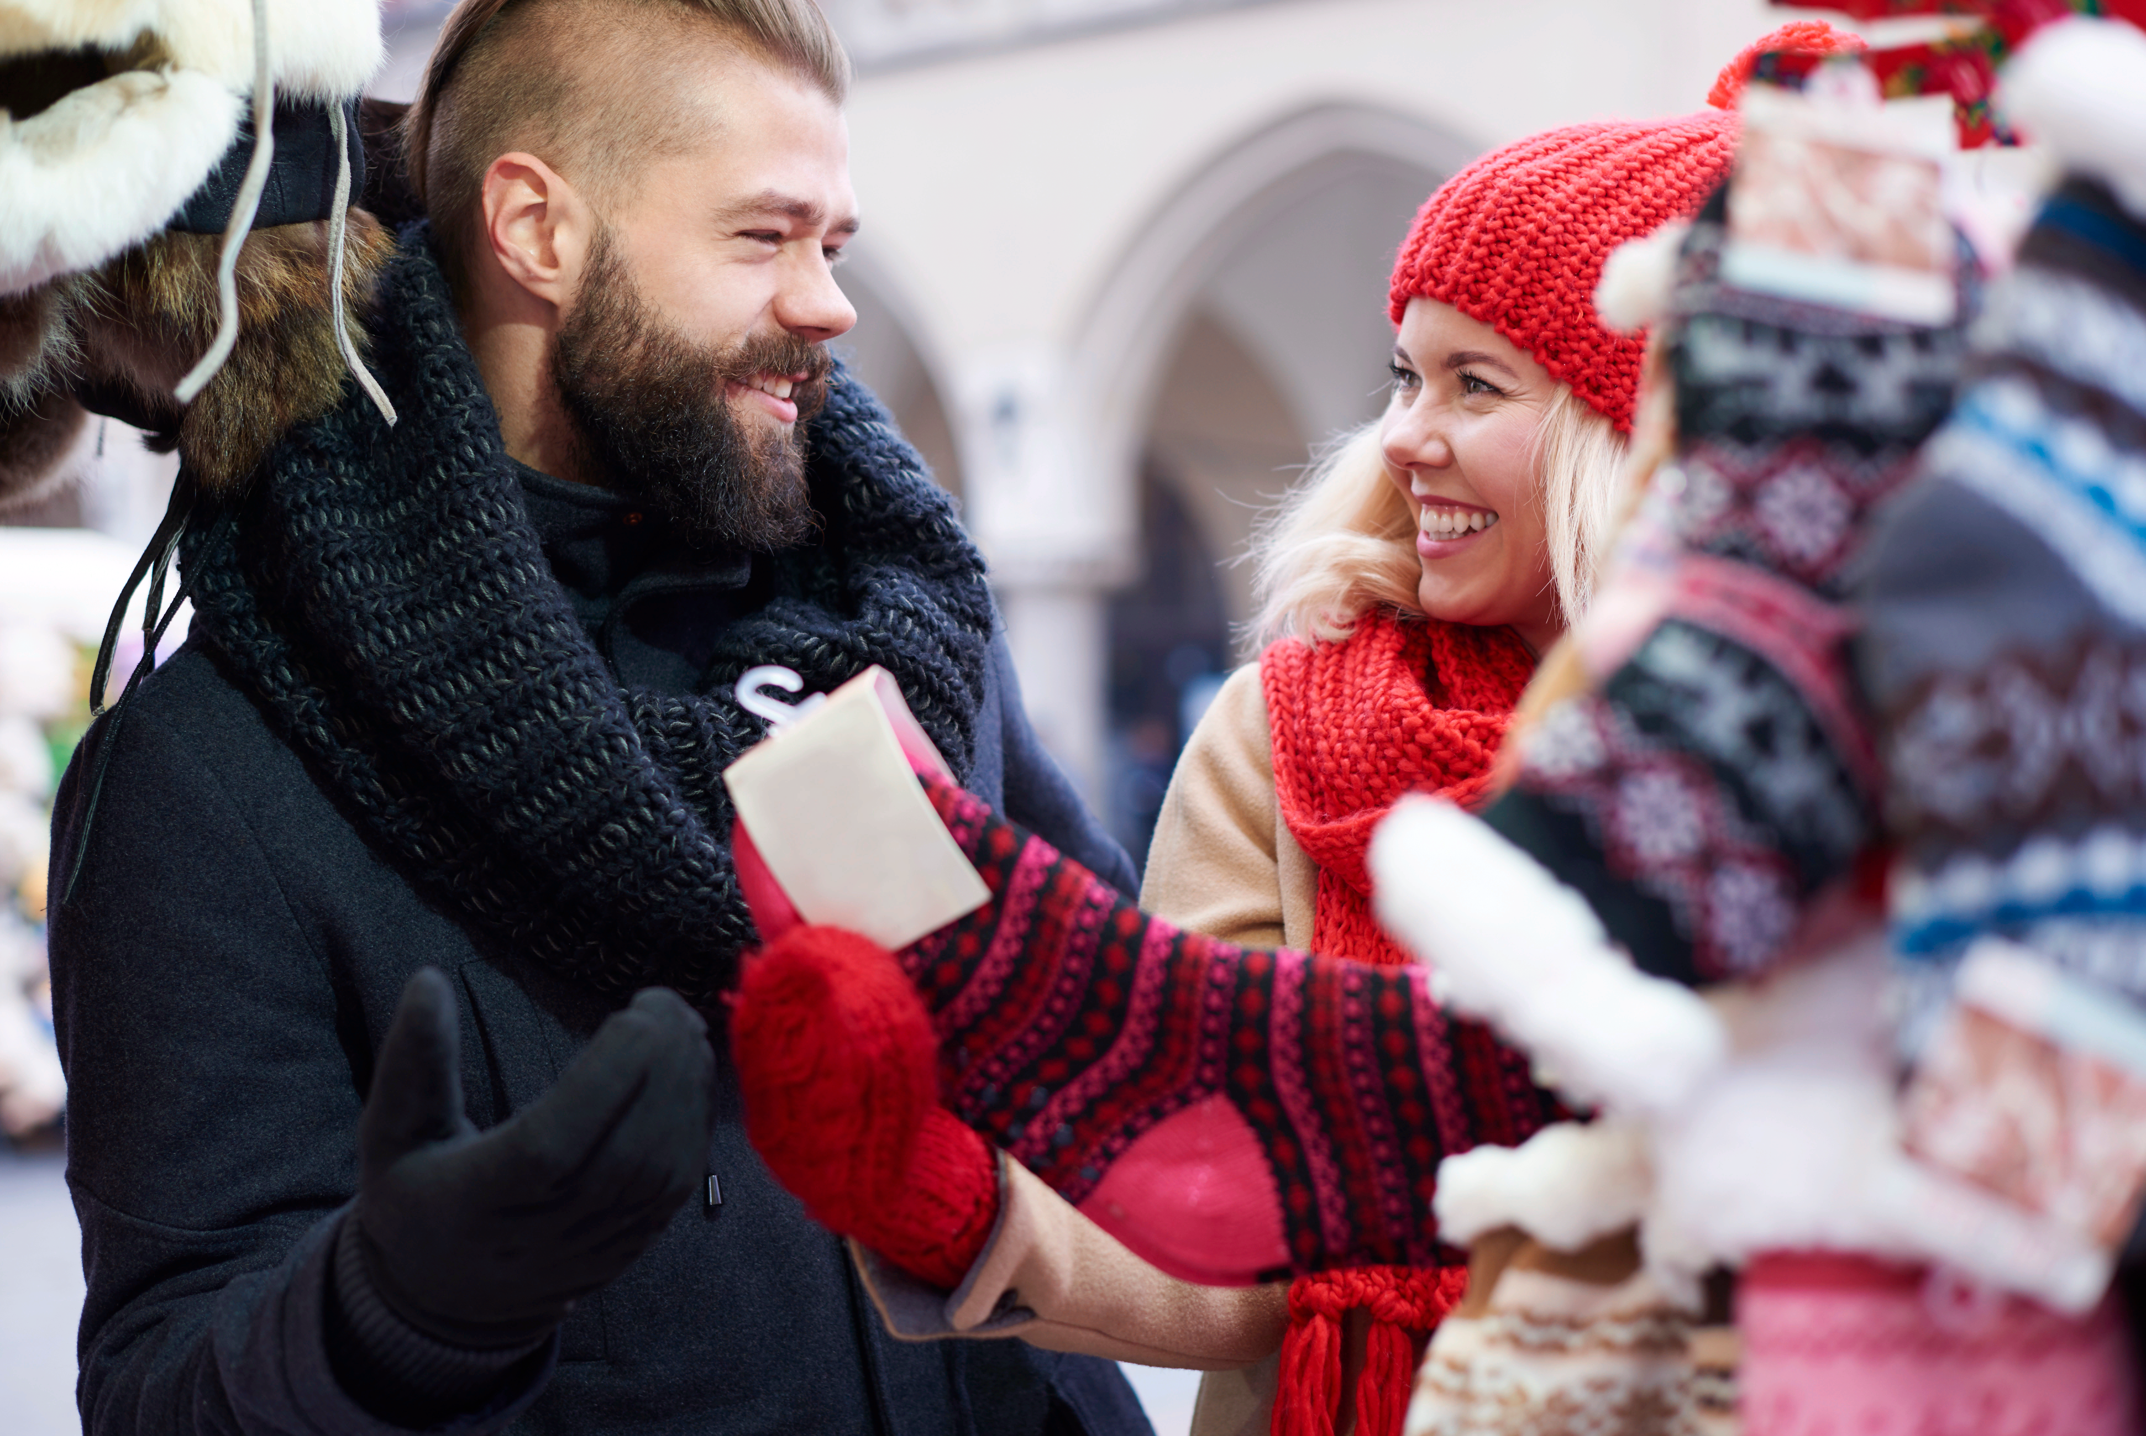
[[[1534,655],[1511,629],[1403,620],[1384,607],[1365,614],[1346,642],[1283,640],[1260,657],[1281,818],[1320,869],[1313,951],[1410,962],[1371,912],[1371,829],[1403,792],[1481,805],[1506,719],[1532,672]],[[1298,1279],[1290,1288],[1273,1436],[1333,1434],[1341,1316],[1358,1307],[1371,1314],[1371,1337],[1356,1382],[1356,1432],[1399,1436],[1416,1337],[1453,1309],[1466,1286],[1464,1266],[1369,1266]]]

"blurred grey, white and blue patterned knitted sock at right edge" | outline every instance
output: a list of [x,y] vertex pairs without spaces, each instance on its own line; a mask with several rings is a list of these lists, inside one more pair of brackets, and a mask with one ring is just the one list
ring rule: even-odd
[[1863,595],[1908,1047],[1985,932],[2146,1002],[2146,223],[2067,182],[1974,348]]

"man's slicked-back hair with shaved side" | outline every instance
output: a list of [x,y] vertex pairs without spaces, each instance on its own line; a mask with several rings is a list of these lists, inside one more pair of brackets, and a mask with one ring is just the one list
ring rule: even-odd
[[461,0],[403,118],[410,187],[457,294],[483,228],[485,170],[526,150],[599,206],[704,131],[678,103],[706,36],[841,105],[850,56],[813,0]]

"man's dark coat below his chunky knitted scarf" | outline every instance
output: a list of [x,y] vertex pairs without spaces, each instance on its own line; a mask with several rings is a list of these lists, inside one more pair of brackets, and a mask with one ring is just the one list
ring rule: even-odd
[[[84,775],[101,747],[84,846]],[[1037,745],[1002,644],[968,783],[1131,884],[1125,854]],[[77,848],[79,878],[58,902]],[[358,1112],[403,983],[425,964],[453,979],[481,1127],[541,1095],[616,1002],[517,962],[421,895],[195,644],[77,753],[54,876],[69,1183],[88,1275],[84,1430],[391,1430],[337,1387],[322,1331]],[[556,1365],[532,1363],[455,1430],[1148,1430],[1107,1363],[1015,1342],[888,1339],[841,1247],[747,1146],[721,1047],[717,1032],[708,1174],[721,1204],[689,1204],[575,1309]]]

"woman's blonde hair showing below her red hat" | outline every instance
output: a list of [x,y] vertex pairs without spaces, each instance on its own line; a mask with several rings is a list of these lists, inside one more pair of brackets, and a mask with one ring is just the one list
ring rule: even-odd
[[[1594,597],[1594,567],[1610,537],[1625,438],[1558,384],[1534,431],[1549,571],[1571,627]],[[1251,631],[1339,642],[1373,603],[1421,614],[1416,522],[1386,468],[1378,421],[1339,438],[1253,530]]]

